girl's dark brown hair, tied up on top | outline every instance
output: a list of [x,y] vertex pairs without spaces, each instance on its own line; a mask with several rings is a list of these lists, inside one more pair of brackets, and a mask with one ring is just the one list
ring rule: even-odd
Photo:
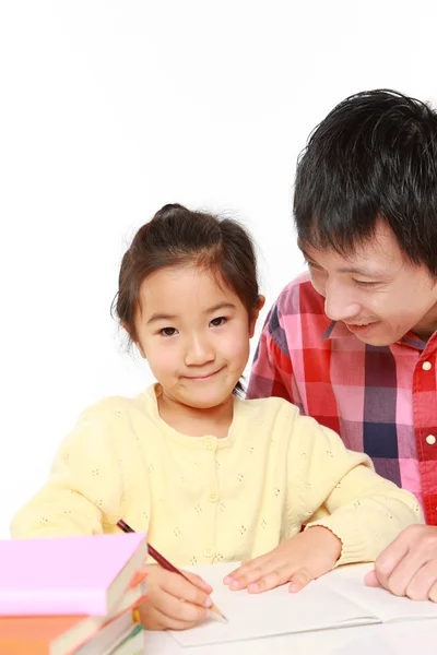
[[[160,269],[187,264],[211,271],[252,315],[259,290],[253,243],[247,231],[236,221],[166,204],[140,227],[121,261],[113,310],[131,341],[138,341],[141,284]],[[241,390],[239,383],[237,390]]]

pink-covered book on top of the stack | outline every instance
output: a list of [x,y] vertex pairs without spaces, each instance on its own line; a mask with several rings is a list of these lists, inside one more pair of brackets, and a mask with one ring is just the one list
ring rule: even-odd
[[146,556],[141,533],[0,541],[0,616],[105,616]]

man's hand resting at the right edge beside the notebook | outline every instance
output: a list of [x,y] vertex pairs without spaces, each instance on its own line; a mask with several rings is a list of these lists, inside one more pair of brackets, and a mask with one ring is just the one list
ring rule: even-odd
[[437,527],[410,525],[386,548],[365,577],[395,596],[437,603]]

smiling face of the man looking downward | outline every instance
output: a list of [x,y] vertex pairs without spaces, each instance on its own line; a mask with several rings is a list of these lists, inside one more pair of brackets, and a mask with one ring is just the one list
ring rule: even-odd
[[426,340],[437,330],[437,281],[405,259],[386,222],[349,257],[299,247],[327,315],[362,342],[387,346],[410,331]]

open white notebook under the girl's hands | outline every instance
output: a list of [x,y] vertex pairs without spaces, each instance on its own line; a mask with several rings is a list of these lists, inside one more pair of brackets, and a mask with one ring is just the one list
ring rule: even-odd
[[308,632],[388,621],[437,619],[437,604],[398,598],[385,590],[364,585],[371,564],[342,567],[314,581],[298,594],[287,585],[253,595],[229,592],[223,577],[237,564],[192,567],[213,586],[212,597],[228,622],[212,615],[186,631],[172,631],[182,646],[200,646],[293,632]]

